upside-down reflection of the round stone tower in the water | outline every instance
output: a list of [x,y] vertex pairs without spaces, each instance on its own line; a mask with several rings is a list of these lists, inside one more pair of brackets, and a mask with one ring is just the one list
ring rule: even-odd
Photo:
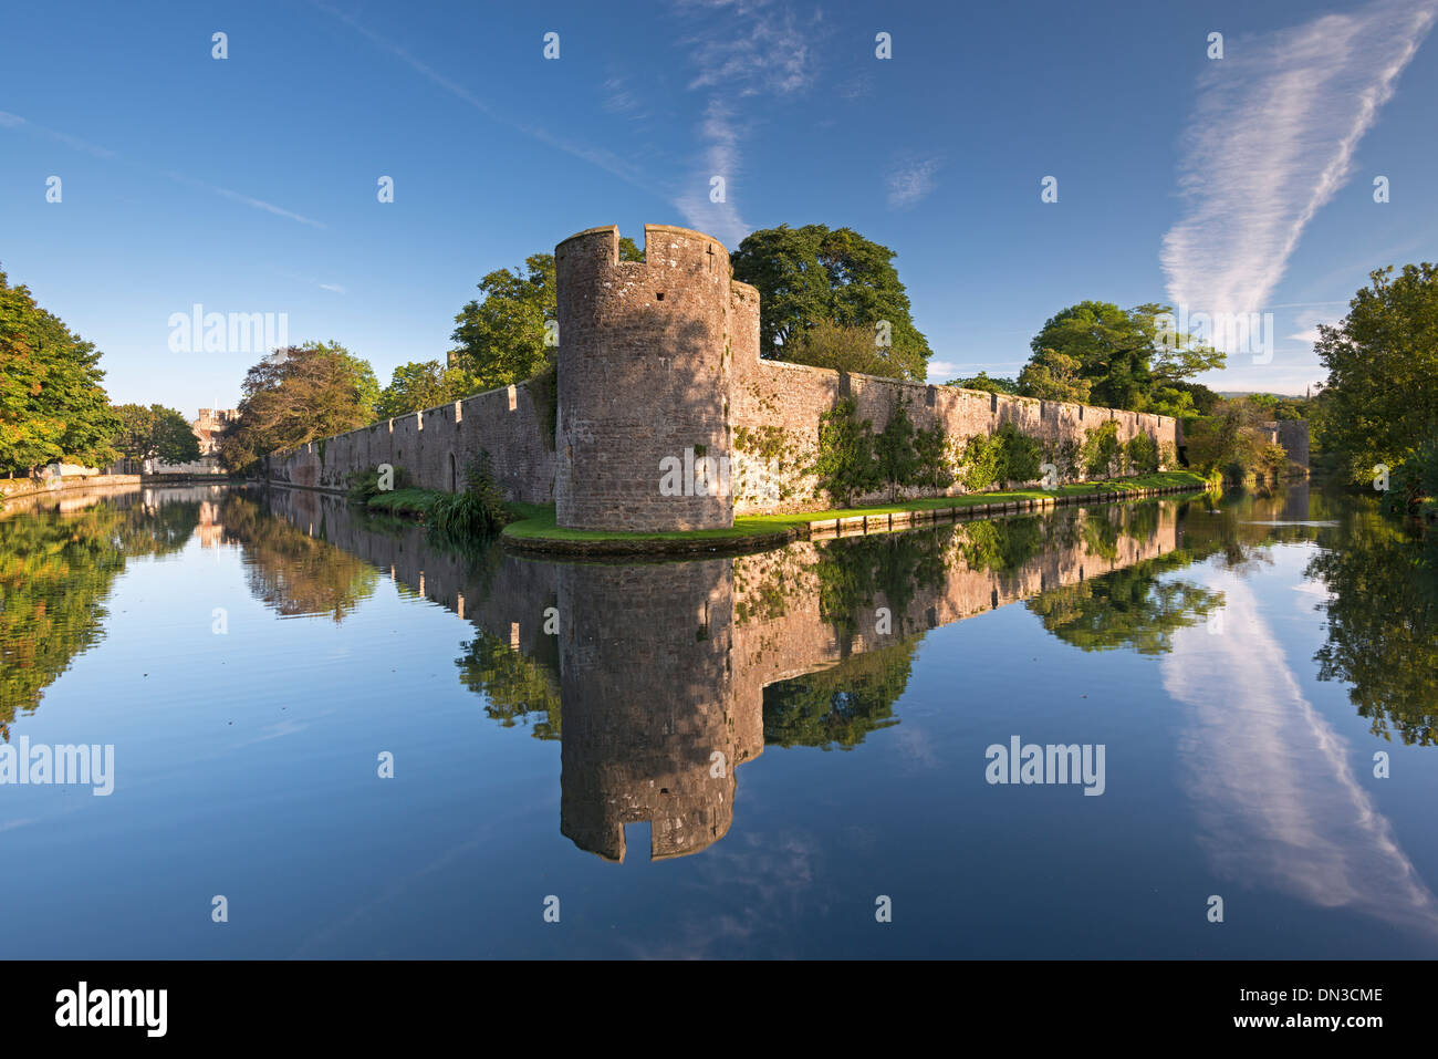
[[559,613],[559,830],[610,860],[627,823],[650,822],[653,859],[723,837],[764,738],[733,712],[732,561],[562,565]]

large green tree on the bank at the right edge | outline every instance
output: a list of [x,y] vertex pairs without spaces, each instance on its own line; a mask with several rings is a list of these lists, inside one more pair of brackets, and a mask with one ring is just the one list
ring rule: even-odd
[[1323,446],[1355,482],[1438,439],[1438,266],[1369,273],[1337,327],[1319,325],[1329,371]]

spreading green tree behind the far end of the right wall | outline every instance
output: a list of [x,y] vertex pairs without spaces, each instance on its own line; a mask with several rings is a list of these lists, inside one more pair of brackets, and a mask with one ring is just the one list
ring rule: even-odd
[[1030,348],[1032,387],[1055,378],[1087,380],[1094,404],[1160,414],[1191,407],[1192,399],[1179,384],[1224,367],[1227,360],[1218,350],[1175,331],[1172,311],[1155,304],[1132,309],[1094,301],[1070,305],[1044,324]]

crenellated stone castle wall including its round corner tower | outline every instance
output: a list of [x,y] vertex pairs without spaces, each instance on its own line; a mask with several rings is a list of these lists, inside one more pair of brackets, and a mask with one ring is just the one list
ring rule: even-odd
[[[1179,424],[1168,416],[764,360],[759,294],[731,279],[722,243],[647,224],[644,260],[621,262],[618,240],[608,226],[555,247],[557,394],[538,380],[490,390],[273,453],[266,478],[341,492],[354,472],[390,463],[414,485],[454,491],[486,449],[506,498],[552,501],[562,527],[674,531],[831,506],[811,466],[821,416],[846,397],[876,433],[900,404],[916,427],[942,426],[951,462],[969,437],[1005,423],[1055,456],[1109,420],[1120,442],[1143,432],[1160,452],[1178,450]],[[961,492],[953,483],[903,495]]]

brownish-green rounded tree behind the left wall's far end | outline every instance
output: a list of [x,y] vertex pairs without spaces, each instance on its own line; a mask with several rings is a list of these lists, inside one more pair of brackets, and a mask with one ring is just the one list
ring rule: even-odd
[[374,422],[374,371],[334,342],[276,350],[240,387],[239,419],[220,440],[220,460],[244,471],[260,456]]

